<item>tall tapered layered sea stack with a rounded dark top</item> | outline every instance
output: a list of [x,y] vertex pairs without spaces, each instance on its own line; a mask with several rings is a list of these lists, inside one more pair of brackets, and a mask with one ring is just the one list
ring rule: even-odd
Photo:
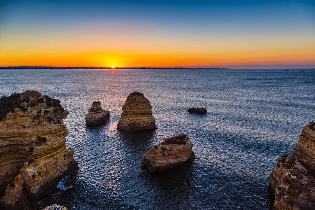
[[129,94],[123,105],[123,113],[117,124],[117,130],[141,131],[155,130],[155,120],[151,111],[150,101],[140,92]]

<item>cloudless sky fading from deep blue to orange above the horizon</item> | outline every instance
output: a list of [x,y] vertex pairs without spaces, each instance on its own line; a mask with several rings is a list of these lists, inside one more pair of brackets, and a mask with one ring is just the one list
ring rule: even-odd
[[315,1],[0,1],[0,66],[315,68]]

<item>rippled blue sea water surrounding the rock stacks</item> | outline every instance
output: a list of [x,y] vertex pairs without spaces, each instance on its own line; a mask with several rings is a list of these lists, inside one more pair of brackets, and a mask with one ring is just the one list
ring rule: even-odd
[[[303,72],[301,72],[303,71]],[[269,209],[268,182],[315,120],[315,69],[0,70],[0,93],[38,90],[69,111],[67,145],[80,170],[43,199],[73,209]],[[157,130],[122,133],[129,93],[150,100]],[[109,121],[87,128],[93,101]],[[188,107],[205,107],[205,115]],[[152,175],[141,155],[187,134],[196,158]]]

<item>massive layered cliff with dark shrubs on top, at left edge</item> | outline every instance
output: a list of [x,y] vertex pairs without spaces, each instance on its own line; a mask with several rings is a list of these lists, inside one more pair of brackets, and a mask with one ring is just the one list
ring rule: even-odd
[[0,208],[35,209],[35,202],[78,170],[66,148],[69,114],[37,91],[0,99]]

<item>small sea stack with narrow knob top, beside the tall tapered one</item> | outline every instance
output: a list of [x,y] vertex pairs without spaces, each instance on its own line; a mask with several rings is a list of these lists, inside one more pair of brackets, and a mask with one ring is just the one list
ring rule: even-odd
[[89,113],[85,116],[86,125],[100,125],[109,118],[109,111],[103,110],[100,101],[94,101]]

